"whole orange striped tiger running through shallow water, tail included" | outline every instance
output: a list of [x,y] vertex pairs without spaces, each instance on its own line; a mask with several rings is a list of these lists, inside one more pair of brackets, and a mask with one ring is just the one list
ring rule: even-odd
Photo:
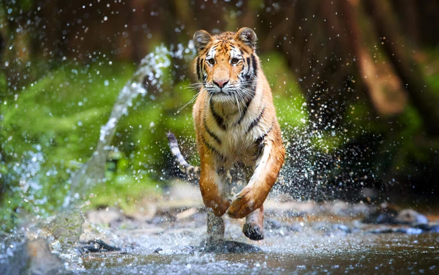
[[[242,232],[264,238],[263,203],[279,175],[285,148],[270,85],[256,54],[257,37],[248,27],[211,35],[195,32],[195,75],[200,91],[193,106],[200,167],[189,165],[175,136],[168,134],[180,169],[199,177],[208,209],[207,233],[224,237],[222,216],[245,217]],[[243,167],[247,185],[230,199],[228,170]]]

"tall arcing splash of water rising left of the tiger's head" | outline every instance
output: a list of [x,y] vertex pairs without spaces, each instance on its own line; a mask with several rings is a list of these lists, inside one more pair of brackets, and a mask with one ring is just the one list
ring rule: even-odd
[[91,159],[71,178],[70,191],[63,203],[64,208],[74,201],[85,199],[87,190],[97,183],[105,182],[105,163],[109,151],[113,149],[111,141],[120,118],[128,114],[128,108],[133,106],[133,100],[139,95],[145,96],[149,87],[154,86],[160,90],[165,69],[171,65],[172,58],[191,59],[194,53],[194,42],[190,41],[187,47],[178,44],[175,50],[174,47],[168,49],[163,45],[158,46],[154,52],[141,60],[139,68],[120,91],[107,123],[100,128],[98,144]]

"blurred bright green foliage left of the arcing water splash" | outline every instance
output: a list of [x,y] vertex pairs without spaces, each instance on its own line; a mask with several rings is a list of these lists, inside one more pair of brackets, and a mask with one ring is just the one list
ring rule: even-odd
[[67,179],[93,152],[133,71],[123,64],[62,66],[2,102],[3,229],[26,212],[45,215],[62,204]]

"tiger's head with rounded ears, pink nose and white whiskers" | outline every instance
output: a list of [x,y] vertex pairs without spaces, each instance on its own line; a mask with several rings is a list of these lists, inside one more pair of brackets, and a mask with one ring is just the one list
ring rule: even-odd
[[212,100],[239,102],[254,96],[259,59],[252,29],[214,36],[200,30],[195,32],[194,42],[199,53],[195,73]]

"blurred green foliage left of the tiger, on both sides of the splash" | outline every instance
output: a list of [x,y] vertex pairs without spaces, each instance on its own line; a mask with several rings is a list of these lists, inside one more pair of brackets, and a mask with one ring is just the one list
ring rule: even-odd
[[[100,127],[134,70],[123,63],[66,65],[20,91],[15,100],[2,102],[3,230],[28,212],[46,215],[60,207],[70,188],[67,180],[93,153]],[[188,83],[173,86],[170,72],[164,74],[163,91],[151,89],[135,99],[129,115],[120,119],[112,143],[117,157],[113,153],[108,165],[114,170],[107,172],[105,184],[90,190],[91,207],[132,210],[157,185],[151,177],[161,175],[169,154],[165,132],[194,134],[191,106],[177,110],[195,92],[184,88]]]

